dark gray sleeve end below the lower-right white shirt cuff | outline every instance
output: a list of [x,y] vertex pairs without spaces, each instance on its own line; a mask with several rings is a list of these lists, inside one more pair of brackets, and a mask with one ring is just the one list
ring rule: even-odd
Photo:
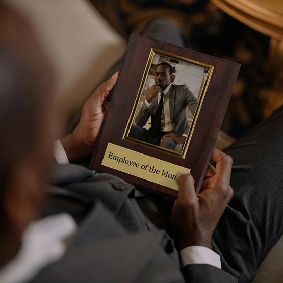
[[187,283],[238,283],[236,277],[209,264],[189,264],[182,272]]

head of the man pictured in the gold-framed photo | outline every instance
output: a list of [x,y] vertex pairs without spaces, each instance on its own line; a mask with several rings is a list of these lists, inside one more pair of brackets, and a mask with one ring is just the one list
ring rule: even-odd
[[173,67],[166,62],[162,62],[155,69],[155,84],[163,90],[171,83],[173,78]]

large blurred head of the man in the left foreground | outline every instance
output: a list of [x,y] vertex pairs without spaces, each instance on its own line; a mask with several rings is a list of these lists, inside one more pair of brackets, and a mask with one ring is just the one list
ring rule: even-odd
[[0,4],[0,267],[37,217],[57,135],[55,81],[29,23]]

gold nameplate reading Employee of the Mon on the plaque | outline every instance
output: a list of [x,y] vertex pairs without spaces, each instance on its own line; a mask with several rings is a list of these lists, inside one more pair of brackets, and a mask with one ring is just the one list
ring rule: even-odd
[[159,185],[179,190],[176,174],[190,173],[190,169],[144,155],[143,153],[108,143],[102,165],[145,179]]

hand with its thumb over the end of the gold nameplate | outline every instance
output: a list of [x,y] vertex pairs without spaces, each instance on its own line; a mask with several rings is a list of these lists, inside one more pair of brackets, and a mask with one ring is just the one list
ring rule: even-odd
[[209,165],[196,194],[194,179],[188,173],[178,173],[179,196],[172,211],[172,224],[178,248],[204,246],[211,249],[211,237],[216,225],[233,197],[230,187],[232,159],[214,149],[212,158],[216,168]]

